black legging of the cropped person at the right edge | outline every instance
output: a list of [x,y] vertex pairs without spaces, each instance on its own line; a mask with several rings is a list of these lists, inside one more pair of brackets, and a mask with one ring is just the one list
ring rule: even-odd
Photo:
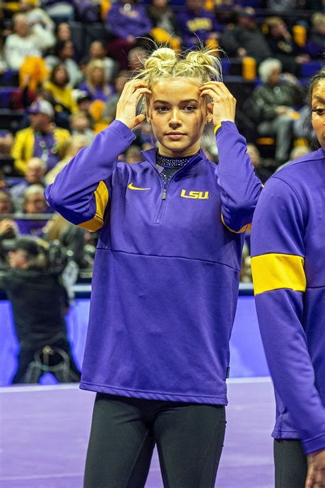
[[307,476],[307,458],[300,441],[274,439],[276,488],[304,488]]

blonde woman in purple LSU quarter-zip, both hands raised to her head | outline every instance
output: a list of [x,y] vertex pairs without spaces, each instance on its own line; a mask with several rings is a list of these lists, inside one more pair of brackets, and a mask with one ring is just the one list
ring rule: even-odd
[[[241,249],[261,182],[214,55],[154,51],[115,121],[46,190],[67,220],[100,232],[80,385],[97,392],[85,488],[143,487],[154,445],[165,487],[215,485]],[[119,162],[146,118],[158,148]],[[201,149],[210,121],[219,165]]]

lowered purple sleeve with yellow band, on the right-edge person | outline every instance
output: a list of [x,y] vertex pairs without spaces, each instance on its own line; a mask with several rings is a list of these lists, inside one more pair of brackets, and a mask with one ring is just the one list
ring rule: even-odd
[[274,388],[309,454],[325,448],[325,408],[303,327],[305,220],[296,193],[273,177],[258,200],[251,247],[258,323]]

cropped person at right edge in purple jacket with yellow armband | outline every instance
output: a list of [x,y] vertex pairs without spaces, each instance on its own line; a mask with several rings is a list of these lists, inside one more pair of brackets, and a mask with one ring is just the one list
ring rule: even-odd
[[276,488],[325,486],[325,68],[310,102],[320,148],[269,178],[252,224],[256,310],[276,395]]

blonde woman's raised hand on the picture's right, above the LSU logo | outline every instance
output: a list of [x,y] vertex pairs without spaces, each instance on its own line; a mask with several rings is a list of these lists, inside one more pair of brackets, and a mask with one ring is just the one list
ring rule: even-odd
[[236,99],[222,82],[207,82],[200,86],[200,96],[210,97],[208,111],[213,114],[213,124],[217,126],[222,121],[234,122]]

